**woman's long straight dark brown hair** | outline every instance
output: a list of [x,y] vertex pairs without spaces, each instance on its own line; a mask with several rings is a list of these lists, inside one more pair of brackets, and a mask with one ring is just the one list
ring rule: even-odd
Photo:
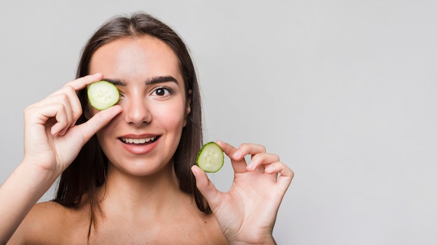
[[[211,213],[209,205],[195,186],[195,177],[191,173],[191,166],[195,163],[197,152],[202,146],[202,112],[198,79],[193,61],[188,48],[179,35],[169,26],[146,13],[134,13],[131,17],[113,17],[103,24],[84,46],[76,77],[89,74],[91,56],[99,47],[119,38],[138,38],[145,35],[158,38],[172,48],[179,60],[187,99],[190,96],[188,90],[191,90],[191,100],[187,100],[191,101],[191,112],[188,114],[186,126],[173,156],[173,164],[179,179],[180,189],[193,196],[199,210]],[[82,103],[82,111],[87,111],[89,109],[87,91],[80,90],[77,95]],[[77,121],[77,124],[87,121],[84,114]],[[87,202],[91,207],[91,223],[95,224],[95,210],[99,209],[97,189],[105,183],[107,168],[108,159],[94,135],[84,145],[73,163],[61,174],[54,201],[68,207],[77,207],[86,195]]]

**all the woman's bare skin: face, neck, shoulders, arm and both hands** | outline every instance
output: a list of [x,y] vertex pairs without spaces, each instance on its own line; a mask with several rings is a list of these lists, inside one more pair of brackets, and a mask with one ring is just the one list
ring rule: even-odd
[[[147,36],[109,42],[96,51],[90,70],[95,74],[26,110],[24,159],[0,187],[0,197],[8,197],[1,203],[6,225],[0,242],[12,235],[8,244],[275,244],[276,214],[294,174],[264,146],[234,148],[217,141],[235,171],[226,193],[200,168],[191,168],[213,214],[200,212],[179,189],[172,155],[190,98],[177,58],[164,42]],[[75,92],[104,78],[119,81],[121,100],[75,125],[82,114]],[[102,212],[89,233],[86,196],[74,209],[34,203],[94,134],[108,157],[108,171],[99,190]],[[128,143],[144,138],[152,140]],[[251,155],[247,163],[246,155]]]

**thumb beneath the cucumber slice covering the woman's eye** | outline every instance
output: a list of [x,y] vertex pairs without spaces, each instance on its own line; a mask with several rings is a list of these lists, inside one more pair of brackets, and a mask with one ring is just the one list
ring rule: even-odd
[[91,136],[96,134],[98,130],[102,129],[108,123],[121,112],[121,106],[115,105],[103,111],[99,111],[92,118],[89,118],[87,122],[82,123],[76,127],[80,127],[80,132],[84,137],[84,141],[91,139]]

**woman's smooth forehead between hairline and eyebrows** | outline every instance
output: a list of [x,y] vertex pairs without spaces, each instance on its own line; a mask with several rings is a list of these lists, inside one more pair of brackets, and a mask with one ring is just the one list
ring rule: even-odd
[[127,80],[172,76],[183,84],[175,52],[162,40],[148,35],[120,38],[99,47],[89,64],[89,73],[96,72]]

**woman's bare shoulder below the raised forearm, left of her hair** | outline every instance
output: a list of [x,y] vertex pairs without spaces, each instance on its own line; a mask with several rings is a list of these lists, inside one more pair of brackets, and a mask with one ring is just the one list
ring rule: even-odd
[[[9,244],[60,244],[84,233],[87,212],[56,202],[37,203],[11,237]],[[82,236],[80,236],[82,237]]]

